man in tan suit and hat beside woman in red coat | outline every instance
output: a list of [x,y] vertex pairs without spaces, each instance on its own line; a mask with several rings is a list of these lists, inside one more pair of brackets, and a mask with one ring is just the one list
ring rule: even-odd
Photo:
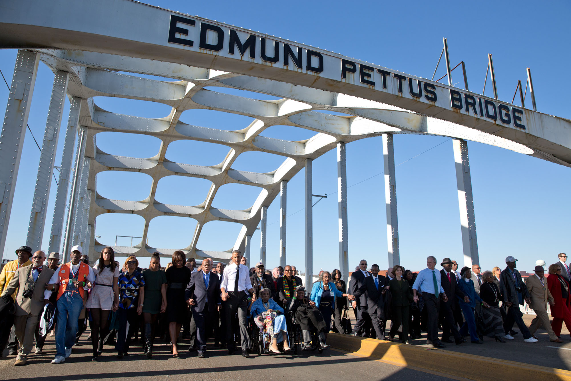
[[[547,280],[544,277],[545,271],[541,266],[536,266],[534,271],[535,275],[529,276],[528,280],[525,282],[532,301],[529,307],[531,307],[536,313],[536,317],[532,320],[532,324],[529,326],[529,332],[533,336],[537,331],[537,328],[543,325],[549,334],[549,340],[554,343],[562,343],[563,340],[559,339],[553,332],[549,316],[547,315],[548,301],[550,305],[554,305],[555,302],[553,301],[551,292],[549,292],[549,288],[547,288]],[[533,338],[537,339],[535,336],[533,336]]]

